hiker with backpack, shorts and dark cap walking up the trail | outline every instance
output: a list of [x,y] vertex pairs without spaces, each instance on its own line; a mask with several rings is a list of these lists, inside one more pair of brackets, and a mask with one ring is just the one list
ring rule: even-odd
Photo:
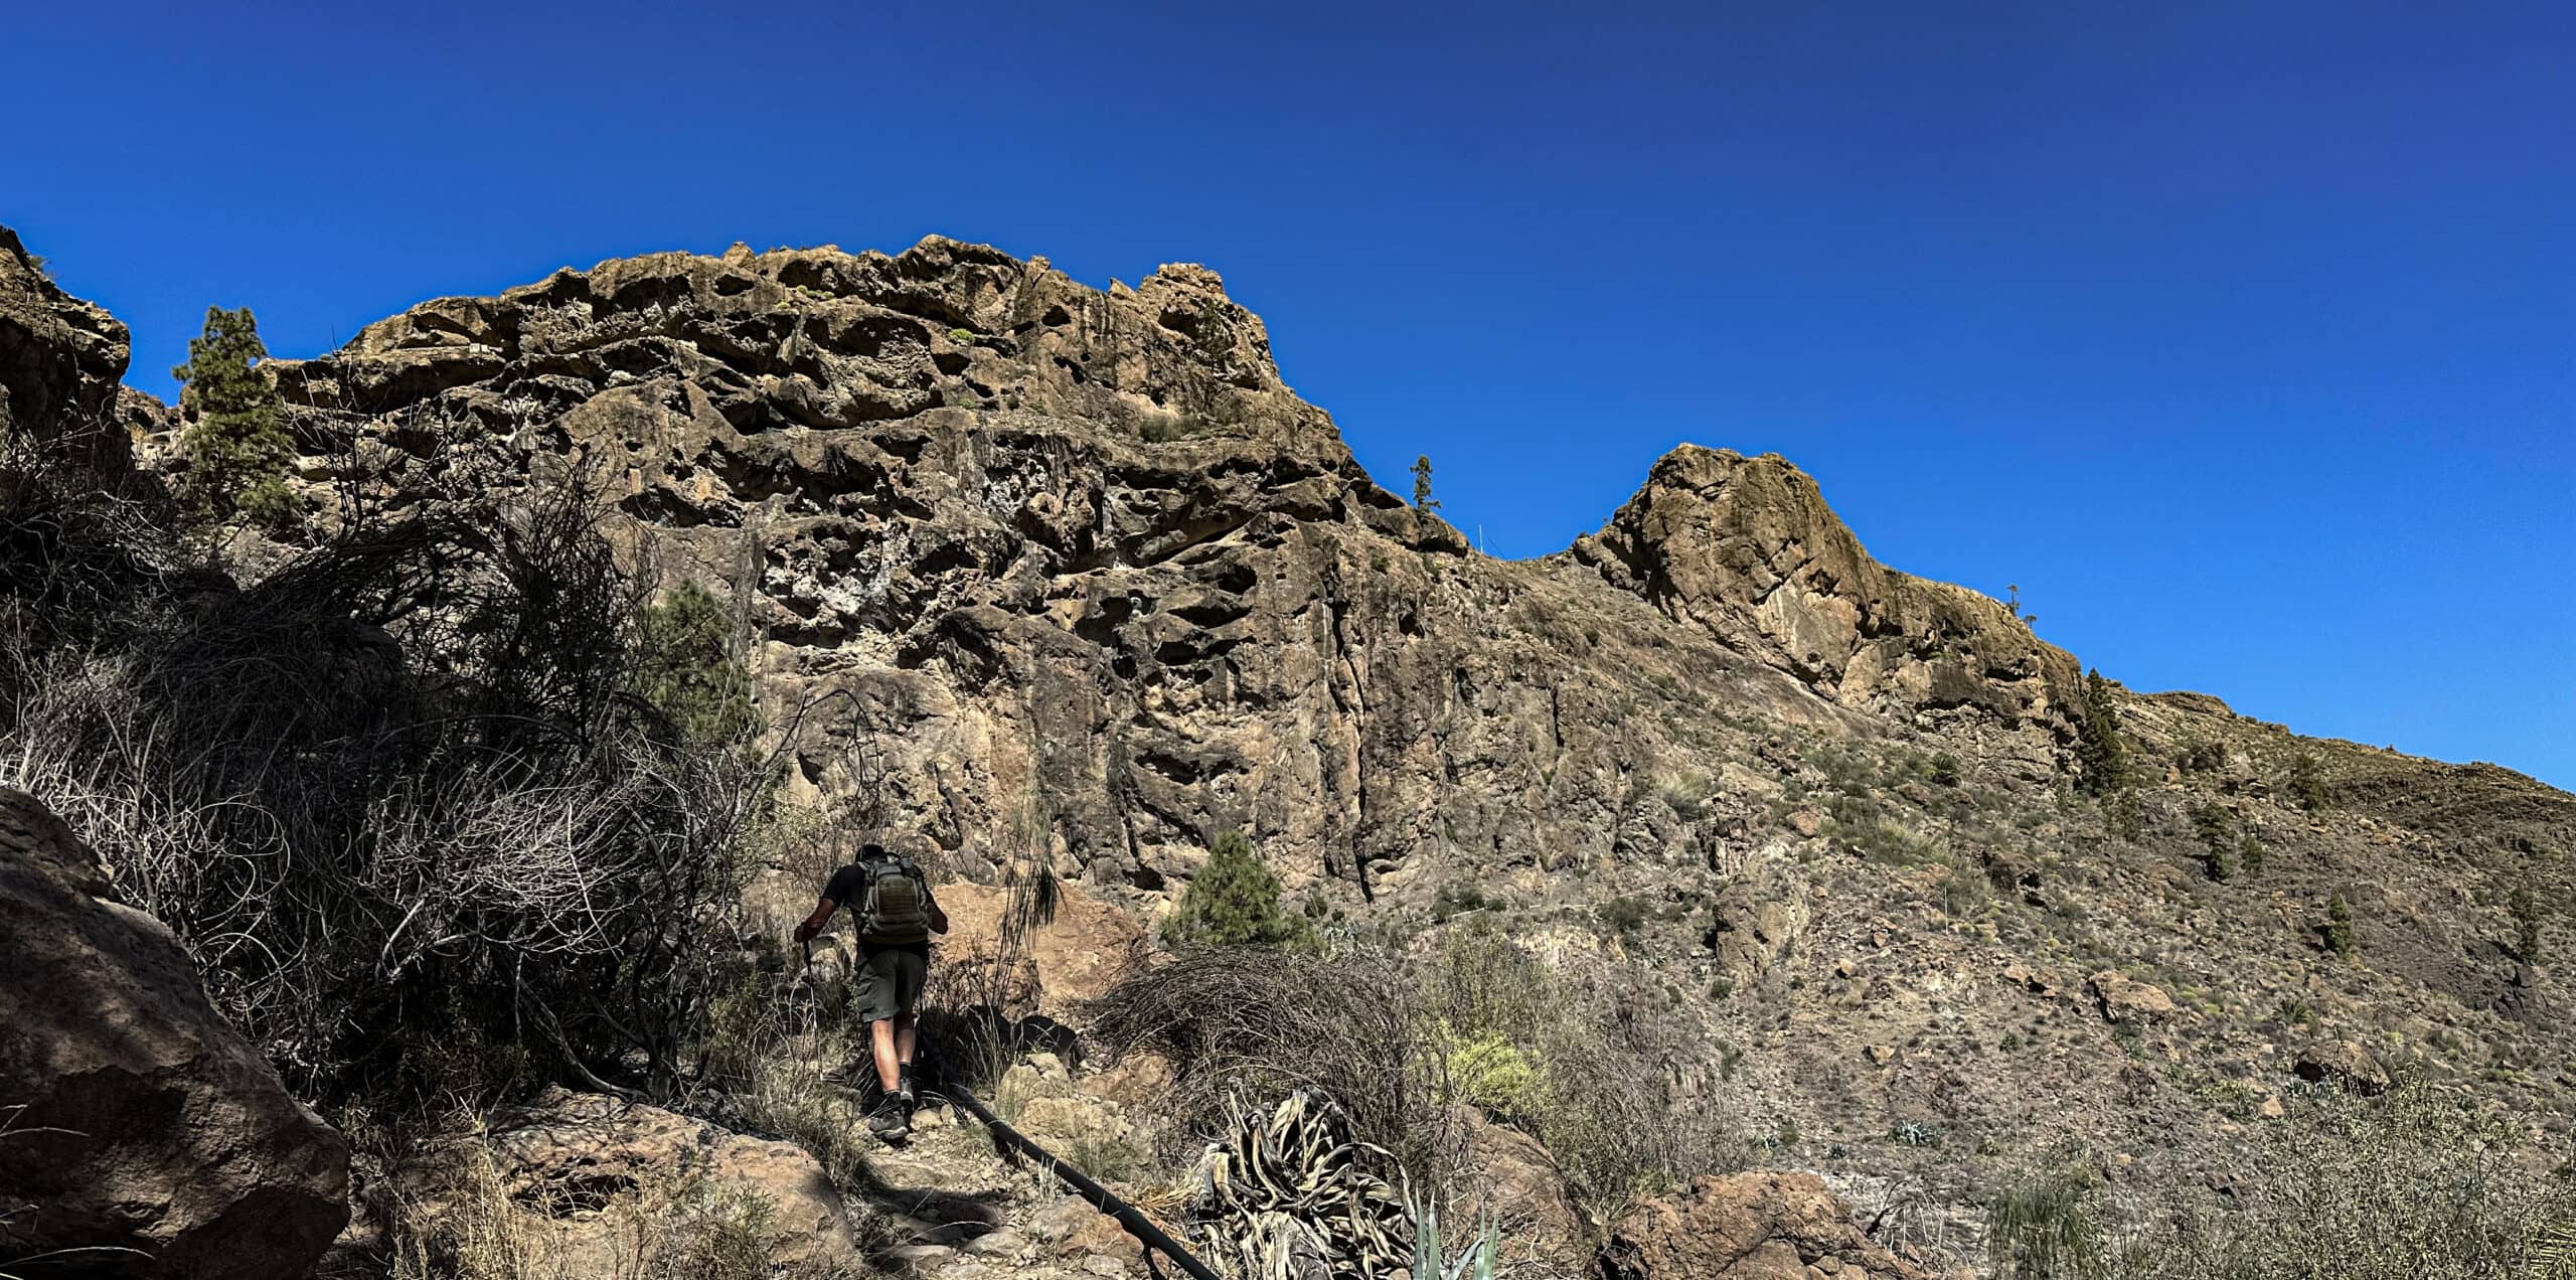
[[858,917],[860,1010],[876,1051],[876,1082],[884,1084],[868,1128],[902,1138],[912,1131],[912,1046],[922,979],[930,976],[930,935],[948,932],[948,912],[930,896],[930,878],[912,858],[876,842],[860,845],[858,860],[832,873],[814,914],[796,925],[796,943],[822,935],[840,907]]

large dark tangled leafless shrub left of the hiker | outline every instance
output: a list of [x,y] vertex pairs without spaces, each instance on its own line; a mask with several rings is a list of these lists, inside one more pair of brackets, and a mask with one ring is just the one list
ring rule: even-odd
[[[410,1051],[482,1043],[680,1092],[739,966],[768,773],[634,693],[649,582],[592,492],[350,525],[240,590],[75,556],[28,520],[0,538],[108,569],[18,567],[0,618],[113,618],[0,634],[0,783],[111,855],[299,1087],[477,1092],[484,1061],[456,1079]],[[134,564],[173,554],[80,528],[134,538]]]

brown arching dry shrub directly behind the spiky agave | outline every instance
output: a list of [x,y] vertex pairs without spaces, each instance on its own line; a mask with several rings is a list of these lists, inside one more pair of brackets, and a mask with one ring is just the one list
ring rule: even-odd
[[1414,1187],[1453,1172],[1450,1087],[1401,961],[1206,948],[1133,974],[1090,1010],[1110,1056],[1172,1061],[1175,1149],[1216,1133],[1234,1095],[1316,1089],[1383,1146]]

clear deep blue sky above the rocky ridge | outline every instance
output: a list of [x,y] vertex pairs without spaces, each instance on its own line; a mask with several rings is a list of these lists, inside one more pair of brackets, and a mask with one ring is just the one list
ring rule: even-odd
[[2576,10],[49,5],[0,221],[167,394],[641,250],[1218,268],[1504,556],[1680,440],[2130,688],[2576,786]]

